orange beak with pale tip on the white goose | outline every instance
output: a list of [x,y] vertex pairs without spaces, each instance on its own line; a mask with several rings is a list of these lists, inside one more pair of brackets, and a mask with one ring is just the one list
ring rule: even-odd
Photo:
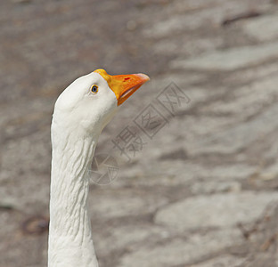
[[127,100],[141,85],[150,80],[145,74],[109,75],[104,69],[96,69],[94,72],[100,74],[115,93],[118,106]]

